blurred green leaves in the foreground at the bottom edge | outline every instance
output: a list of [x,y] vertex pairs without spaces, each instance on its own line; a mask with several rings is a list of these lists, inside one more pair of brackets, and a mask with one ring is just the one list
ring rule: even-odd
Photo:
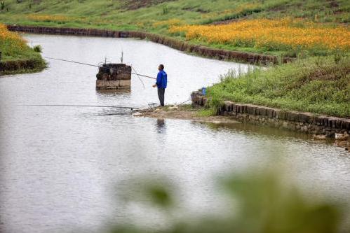
[[[154,181],[139,180],[137,185],[132,185],[133,194],[129,193],[129,201],[148,200],[149,206],[161,207],[170,216],[168,227],[150,229],[141,225],[116,225],[110,232],[339,232],[344,216],[339,203],[319,194],[318,198],[306,196],[280,172],[253,169],[256,172],[248,174],[247,171],[219,180],[217,190],[222,190],[228,199],[226,209],[222,211],[224,214],[220,216],[215,213],[203,213],[201,216],[180,213],[180,219],[171,217],[175,216],[172,212],[176,211],[178,189],[170,188],[167,181],[159,182],[159,178],[154,178]],[[220,198],[217,198],[217,204]]]

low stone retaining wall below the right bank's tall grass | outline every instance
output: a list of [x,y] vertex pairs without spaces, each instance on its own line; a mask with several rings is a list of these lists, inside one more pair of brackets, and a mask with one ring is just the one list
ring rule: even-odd
[[[200,92],[191,94],[192,102],[204,106],[207,97]],[[350,118],[335,118],[326,115],[314,115],[296,111],[282,111],[278,108],[269,108],[252,104],[237,104],[224,101],[219,115],[229,115],[241,122],[250,122],[257,125],[291,129],[307,134],[322,134],[334,138],[335,134],[350,134]]]

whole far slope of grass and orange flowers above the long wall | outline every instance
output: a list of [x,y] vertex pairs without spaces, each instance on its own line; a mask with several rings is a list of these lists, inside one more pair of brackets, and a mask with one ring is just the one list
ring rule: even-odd
[[[93,27],[102,29],[143,30],[166,34],[191,43],[205,44],[213,48],[260,52],[272,55],[297,56],[305,47],[312,45],[311,55],[328,54],[340,38],[349,41],[350,3],[339,1],[302,0],[83,0],[83,1],[4,1],[0,10],[0,22],[43,25],[55,27]],[[297,19],[276,27],[266,20],[281,18]],[[203,24],[236,20],[238,24],[203,26]],[[286,21],[284,21],[286,22]],[[236,36],[236,27],[245,24],[242,31],[249,36]],[[180,26],[180,27],[174,27]],[[261,28],[261,26],[264,26]],[[281,28],[282,27],[282,28]],[[272,39],[278,35],[278,39]],[[297,34],[293,34],[293,30]],[[174,33],[176,31],[176,33]],[[238,30],[239,31],[239,30]],[[260,34],[256,34],[260,31]],[[321,31],[321,34],[318,32]],[[331,38],[325,31],[331,31]],[[265,32],[264,34],[261,34]],[[272,34],[268,34],[272,32]],[[282,35],[283,34],[283,35]],[[292,35],[290,41],[286,41]],[[234,38],[233,38],[233,37]],[[256,37],[260,36],[259,41]],[[300,36],[306,36],[297,41]],[[243,37],[243,38],[242,38]],[[335,40],[333,40],[335,39]],[[232,43],[234,41],[234,43]],[[344,41],[342,42],[344,44]],[[297,45],[297,46],[296,46]],[[346,48],[345,48],[346,47]],[[348,49],[348,45],[341,48]],[[322,51],[318,51],[321,48]]]

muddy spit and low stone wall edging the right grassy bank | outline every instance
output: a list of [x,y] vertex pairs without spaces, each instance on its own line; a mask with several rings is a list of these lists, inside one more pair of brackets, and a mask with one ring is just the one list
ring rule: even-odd
[[[309,134],[314,140],[328,140],[335,146],[350,151],[350,119],[316,117],[311,113],[283,112],[264,106],[234,104],[229,101],[217,115],[203,107],[205,97],[198,92],[192,94],[193,104],[142,109],[134,117],[191,120],[213,124],[248,123],[302,134]],[[234,108],[236,109],[234,111]]]

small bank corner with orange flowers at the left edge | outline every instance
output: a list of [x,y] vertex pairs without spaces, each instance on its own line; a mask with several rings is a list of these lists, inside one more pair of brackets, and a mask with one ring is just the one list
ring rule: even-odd
[[25,39],[0,24],[1,74],[39,71],[46,64],[40,47],[30,48]]

